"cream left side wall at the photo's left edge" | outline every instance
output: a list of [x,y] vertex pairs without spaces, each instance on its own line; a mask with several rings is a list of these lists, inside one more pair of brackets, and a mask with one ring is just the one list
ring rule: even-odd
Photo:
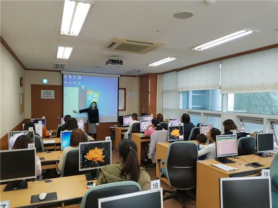
[[[20,77],[24,77],[24,69],[1,44],[1,113],[0,137],[25,119],[25,114],[19,114],[19,93],[24,93],[20,87]],[[26,105],[26,103],[25,103]]]

